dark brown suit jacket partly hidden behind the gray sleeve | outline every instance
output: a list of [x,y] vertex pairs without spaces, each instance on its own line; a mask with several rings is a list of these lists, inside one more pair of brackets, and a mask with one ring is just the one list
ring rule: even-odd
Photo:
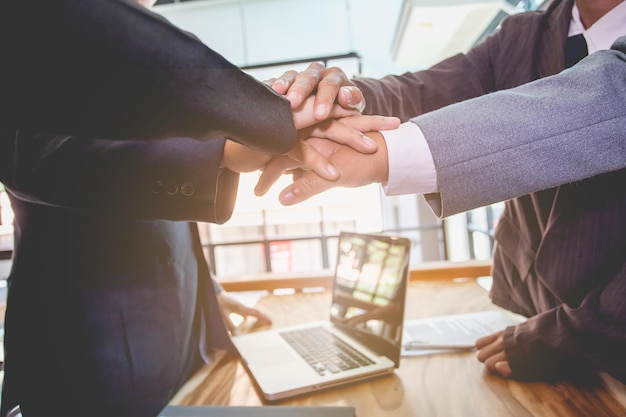
[[[367,112],[408,120],[560,72],[572,5],[557,0],[546,12],[512,16],[467,54],[428,70],[355,80]],[[617,171],[506,203],[493,300],[532,316],[505,333],[514,376],[545,378],[581,365],[626,376],[623,182]]]

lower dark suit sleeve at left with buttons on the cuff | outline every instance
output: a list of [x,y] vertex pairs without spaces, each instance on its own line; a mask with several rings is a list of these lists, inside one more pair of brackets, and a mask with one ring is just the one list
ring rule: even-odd
[[[220,168],[224,139],[111,141],[29,135],[12,138],[2,181],[16,198],[108,217],[223,223],[239,174]],[[6,147],[5,147],[6,149]]]

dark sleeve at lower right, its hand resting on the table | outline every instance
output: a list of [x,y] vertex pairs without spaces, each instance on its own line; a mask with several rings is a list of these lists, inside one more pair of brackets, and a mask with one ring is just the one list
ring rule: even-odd
[[[626,264],[580,306],[559,307],[504,333],[513,376],[546,379],[579,372],[608,372],[626,381]],[[587,369],[581,369],[586,366]]]

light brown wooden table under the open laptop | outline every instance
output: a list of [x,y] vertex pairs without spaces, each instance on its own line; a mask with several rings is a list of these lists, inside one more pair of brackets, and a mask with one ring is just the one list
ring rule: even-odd
[[[328,291],[268,295],[258,307],[274,326],[326,319]],[[411,282],[406,318],[495,308],[473,279]],[[402,358],[393,375],[283,400],[272,405],[353,406],[358,417],[626,416],[624,386],[608,389],[590,375],[584,383],[522,383],[486,372],[473,352]],[[174,397],[178,405],[262,405],[240,360],[218,352]]]

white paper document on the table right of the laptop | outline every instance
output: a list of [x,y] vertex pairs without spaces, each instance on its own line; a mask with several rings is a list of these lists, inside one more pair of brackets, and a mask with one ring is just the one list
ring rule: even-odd
[[499,310],[405,320],[402,356],[472,350],[476,339],[524,320]]

